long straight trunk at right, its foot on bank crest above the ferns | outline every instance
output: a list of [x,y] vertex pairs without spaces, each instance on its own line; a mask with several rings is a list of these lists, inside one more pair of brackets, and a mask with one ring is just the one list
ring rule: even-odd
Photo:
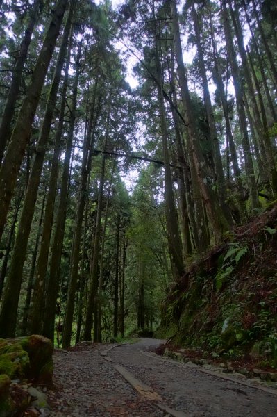
[[233,82],[235,87],[235,97],[237,102],[237,113],[239,116],[240,131],[242,135],[242,147],[244,151],[244,165],[246,171],[246,177],[249,186],[249,195],[252,209],[260,206],[258,199],[258,191],[255,182],[255,172],[253,167],[253,160],[251,156],[251,147],[249,143],[249,135],[247,131],[246,115],[244,111],[244,101],[242,92],[242,83],[240,81],[240,74],[237,66],[237,58],[233,45],[232,31],[230,28],[230,21],[228,16],[228,10],[226,8],[226,0],[221,1],[221,15],[224,25],[224,33],[226,38],[226,45],[228,55],[230,57],[230,65],[233,75]]

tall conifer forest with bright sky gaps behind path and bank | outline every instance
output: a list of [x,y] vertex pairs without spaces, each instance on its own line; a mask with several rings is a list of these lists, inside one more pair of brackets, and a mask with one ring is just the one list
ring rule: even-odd
[[0,337],[155,329],[276,199],[276,22],[270,0],[0,0]]

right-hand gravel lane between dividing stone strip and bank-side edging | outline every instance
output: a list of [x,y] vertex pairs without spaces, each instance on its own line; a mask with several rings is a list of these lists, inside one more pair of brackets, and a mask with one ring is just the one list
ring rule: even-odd
[[192,417],[276,417],[277,395],[206,375],[185,363],[162,361],[142,354],[157,344],[144,339],[109,352],[137,379],[151,386],[172,409]]

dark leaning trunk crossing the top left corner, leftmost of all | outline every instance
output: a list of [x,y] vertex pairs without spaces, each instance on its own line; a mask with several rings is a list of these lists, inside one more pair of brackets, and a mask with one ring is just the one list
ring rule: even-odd
[[[22,81],[22,72],[24,63],[28,54],[28,47],[31,43],[33,29],[37,22],[37,15],[39,10],[43,7],[43,0],[35,0],[33,8],[30,13],[28,26],[26,28],[22,44],[20,45],[19,54],[12,72],[12,81],[8,91],[8,97],[3,110],[2,121],[0,125],[0,165],[5,151],[6,144],[10,138],[10,124],[15,113],[15,104],[19,95],[19,88]],[[0,5],[1,8],[1,5]]]

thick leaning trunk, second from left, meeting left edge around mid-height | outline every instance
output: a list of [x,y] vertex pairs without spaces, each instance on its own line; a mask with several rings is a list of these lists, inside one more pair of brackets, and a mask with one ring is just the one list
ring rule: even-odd
[[[35,117],[35,111],[40,101],[40,93],[44,84],[44,79],[47,74],[49,63],[53,55],[56,45],[56,40],[60,33],[60,26],[65,14],[65,8],[68,0],[58,0],[56,10],[53,11],[51,24],[47,35],[45,37],[40,55],[37,58],[37,63],[33,71],[31,85],[29,86],[26,97],[22,103],[22,108],[19,111],[19,116],[15,129],[12,132],[10,143],[3,159],[0,169],[0,239],[3,234],[3,228],[6,223],[8,208],[10,206],[10,199],[12,198],[15,188],[19,169],[22,164],[22,159],[28,145],[30,138],[31,126]],[[13,324],[11,323],[12,328]],[[7,330],[8,332],[8,330]]]

